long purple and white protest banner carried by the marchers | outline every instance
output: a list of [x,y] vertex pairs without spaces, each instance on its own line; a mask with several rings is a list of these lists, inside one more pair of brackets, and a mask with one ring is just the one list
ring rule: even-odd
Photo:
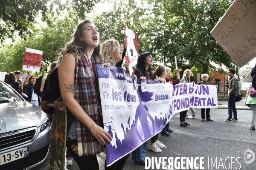
[[104,129],[113,138],[106,142],[107,166],[159,133],[175,113],[218,107],[213,85],[146,80],[147,91],[142,92],[141,79],[135,86],[122,68],[97,65],[97,71]]

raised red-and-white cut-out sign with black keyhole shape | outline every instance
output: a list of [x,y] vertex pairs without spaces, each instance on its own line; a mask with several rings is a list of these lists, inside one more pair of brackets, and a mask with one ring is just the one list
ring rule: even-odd
[[127,43],[127,51],[125,55],[126,64],[129,66],[130,74],[134,71],[139,57],[138,40],[135,31],[125,26],[125,42]]

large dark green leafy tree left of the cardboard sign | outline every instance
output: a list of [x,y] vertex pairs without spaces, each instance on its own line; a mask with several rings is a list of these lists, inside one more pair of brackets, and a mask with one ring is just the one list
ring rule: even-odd
[[[210,34],[232,0],[148,0],[153,20],[148,37],[152,51],[175,68],[189,62],[192,70],[207,73],[221,68],[212,65],[235,63]],[[174,65],[174,66],[173,66]]]

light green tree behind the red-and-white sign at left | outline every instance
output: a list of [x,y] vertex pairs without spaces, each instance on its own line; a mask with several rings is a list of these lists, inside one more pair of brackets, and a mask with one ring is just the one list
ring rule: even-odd
[[61,48],[70,40],[78,19],[66,16],[56,20],[51,26],[42,28],[35,38],[20,40],[15,45],[6,45],[0,51],[0,71],[21,70],[25,48],[37,49],[43,52],[41,69],[37,74],[46,74],[48,65],[58,60]]

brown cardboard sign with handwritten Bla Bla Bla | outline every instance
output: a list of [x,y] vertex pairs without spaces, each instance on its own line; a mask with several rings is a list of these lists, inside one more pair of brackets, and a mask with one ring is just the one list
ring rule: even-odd
[[256,0],[235,0],[211,31],[239,67],[256,57]]

